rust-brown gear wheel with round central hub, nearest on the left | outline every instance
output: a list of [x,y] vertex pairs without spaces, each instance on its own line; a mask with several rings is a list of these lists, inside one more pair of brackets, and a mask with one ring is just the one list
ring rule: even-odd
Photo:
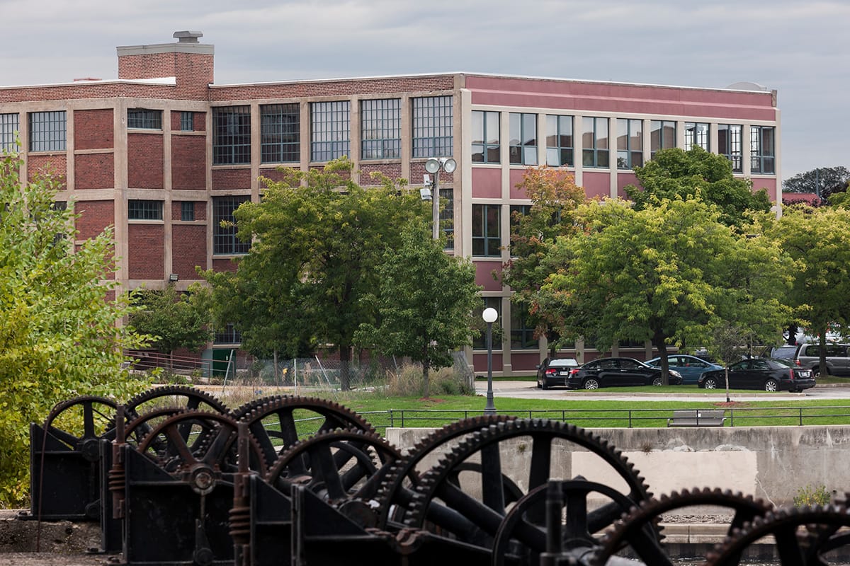
[[[218,412],[181,411],[157,424],[136,447],[169,473],[235,472],[238,423]],[[248,467],[265,475],[267,468],[256,440],[249,443]]]

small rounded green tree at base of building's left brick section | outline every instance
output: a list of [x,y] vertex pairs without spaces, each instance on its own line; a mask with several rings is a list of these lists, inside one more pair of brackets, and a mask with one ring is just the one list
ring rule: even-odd
[[197,350],[212,338],[208,311],[196,300],[197,293],[178,293],[173,283],[165,289],[139,289],[132,303],[139,307],[129,317],[129,325],[149,334],[154,348],[173,355],[178,348]]

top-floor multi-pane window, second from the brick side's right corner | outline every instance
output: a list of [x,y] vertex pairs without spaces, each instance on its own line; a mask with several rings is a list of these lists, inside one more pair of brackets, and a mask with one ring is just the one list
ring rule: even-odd
[[401,99],[360,101],[360,155],[365,160],[401,157]]

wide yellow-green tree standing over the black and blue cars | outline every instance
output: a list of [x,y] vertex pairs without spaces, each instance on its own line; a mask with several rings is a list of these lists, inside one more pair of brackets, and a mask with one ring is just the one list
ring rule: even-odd
[[608,349],[622,339],[651,340],[667,382],[667,345],[706,343],[717,319],[774,339],[788,316],[779,297],[790,262],[768,238],[725,226],[697,197],[635,210],[621,200],[582,206],[581,233],[559,238],[560,267],[544,288],[564,316],[564,333]]

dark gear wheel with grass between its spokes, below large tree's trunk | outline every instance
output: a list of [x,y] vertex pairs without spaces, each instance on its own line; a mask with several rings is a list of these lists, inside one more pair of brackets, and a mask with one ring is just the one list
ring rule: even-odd
[[247,423],[263,451],[266,466],[275,465],[278,457],[295,446],[298,440],[334,429],[375,429],[356,412],[326,399],[313,397],[274,396],[255,406],[239,419]]

